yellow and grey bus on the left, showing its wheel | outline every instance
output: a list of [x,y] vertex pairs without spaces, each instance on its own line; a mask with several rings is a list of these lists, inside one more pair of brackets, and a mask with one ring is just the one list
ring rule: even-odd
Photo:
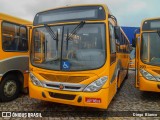
[[31,22],[0,13],[0,101],[18,97],[28,87]]

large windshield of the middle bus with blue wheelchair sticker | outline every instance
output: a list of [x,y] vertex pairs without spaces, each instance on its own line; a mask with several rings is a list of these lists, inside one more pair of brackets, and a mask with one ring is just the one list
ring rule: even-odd
[[[34,66],[51,70],[90,70],[100,68],[106,59],[105,25],[78,24],[50,26],[57,35],[52,39],[46,27],[33,30],[31,62]],[[69,39],[67,39],[69,36]],[[68,66],[67,69],[64,63]]]

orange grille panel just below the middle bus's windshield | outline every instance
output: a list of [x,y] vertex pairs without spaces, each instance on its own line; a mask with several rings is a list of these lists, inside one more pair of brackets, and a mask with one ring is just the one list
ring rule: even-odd
[[67,83],[80,83],[89,78],[88,76],[49,75],[49,74],[43,74],[43,73],[40,73],[40,75],[49,81],[67,82]]

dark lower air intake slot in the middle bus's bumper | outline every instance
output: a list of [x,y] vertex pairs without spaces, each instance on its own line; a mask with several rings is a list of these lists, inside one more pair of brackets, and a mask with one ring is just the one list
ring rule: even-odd
[[49,92],[49,95],[53,98],[65,99],[65,100],[74,100],[76,95],[60,94]]

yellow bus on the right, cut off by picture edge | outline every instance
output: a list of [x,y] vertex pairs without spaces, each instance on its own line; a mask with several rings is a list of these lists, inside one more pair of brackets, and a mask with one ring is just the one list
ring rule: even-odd
[[136,87],[160,92],[160,18],[146,19],[136,40]]

